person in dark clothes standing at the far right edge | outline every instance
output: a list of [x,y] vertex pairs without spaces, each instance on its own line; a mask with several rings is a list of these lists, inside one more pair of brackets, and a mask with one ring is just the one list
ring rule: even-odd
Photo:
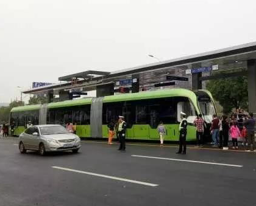
[[[249,118],[244,122],[244,126],[247,129],[247,151],[255,151],[255,137],[254,137],[254,127],[255,119],[252,112],[249,113]],[[252,145],[252,147],[251,147]]]

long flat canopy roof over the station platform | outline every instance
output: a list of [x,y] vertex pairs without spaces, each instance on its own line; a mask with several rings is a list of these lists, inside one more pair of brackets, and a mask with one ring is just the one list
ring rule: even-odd
[[[256,42],[128,69],[116,70],[114,72],[87,70],[59,78],[59,81],[65,82],[29,89],[28,91],[24,91],[24,94],[53,92],[79,87],[83,87],[84,91],[89,91],[90,89],[95,89],[99,84],[114,83],[115,86],[117,86],[117,82],[133,83],[134,78],[137,78],[136,81],[139,82],[140,91],[143,88],[146,88],[146,90],[148,88],[154,89],[155,84],[171,81],[172,77],[188,78],[188,81],[175,81],[175,86],[180,88],[196,89],[198,88],[197,83],[201,84],[202,81],[204,82],[205,80],[248,75],[247,70],[248,65],[251,65],[249,62],[250,60],[256,60]],[[200,75],[187,73],[187,70],[190,69],[201,69],[203,67],[212,67],[214,65],[218,65],[218,70],[201,72]],[[73,83],[74,79],[77,79],[75,85]],[[193,85],[195,86],[193,87]]]

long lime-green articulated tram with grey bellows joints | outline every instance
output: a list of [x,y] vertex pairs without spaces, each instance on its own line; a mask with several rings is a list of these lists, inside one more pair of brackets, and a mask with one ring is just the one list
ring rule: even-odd
[[81,98],[46,105],[13,108],[10,123],[15,122],[15,135],[24,131],[28,121],[33,125],[77,123],[79,137],[107,138],[107,124],[123,115],[127,123],[127,139],[157,140],[157,126],[166,126],[165,140],[179,140],[180,111],[187,114],[187,140],[196,139],[193,125],[197,114],[206,123],[216,114],[210,92],[187,89],[163,89],[151,92],[112,95],[99,98]]

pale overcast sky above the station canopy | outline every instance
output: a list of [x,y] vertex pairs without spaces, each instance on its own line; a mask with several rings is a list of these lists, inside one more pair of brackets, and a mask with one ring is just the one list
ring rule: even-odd
[[256,41],[252,0],[1,0],[0,102],[17,86]]

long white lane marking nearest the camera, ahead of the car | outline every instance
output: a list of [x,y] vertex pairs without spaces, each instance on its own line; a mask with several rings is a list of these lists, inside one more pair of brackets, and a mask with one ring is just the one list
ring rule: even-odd
[[105,175],[105,174],[97,174],[97,173],[89,173],[89,172],[80,171],[80,170],[72,170],[72,169],[64,168],[64,167],[52,166],[52,168],[59,169],[59,170],[65,170],[65,171],[72,171],[74,173],[89,174],[89,175],[92,175],[92,176],[104,177],[104,178],[108,178],[108,179],[115,179],[115,180],[119,180],[119,181],[123,181],[123,182],[131,182],[131,183],[135,183],[135,184],[147,185],[147,186],[151,186],[151,187],[157,187],[158,186],[156,184],[151,184],[151,183],[148,183],[148,182],[140,182],[140,181],[137,181],[137,180],[130,180],[130,179],[124,179],[124,178],[120,178],[120,177],[113,177],[113,176],[108,176],[108,175]]

